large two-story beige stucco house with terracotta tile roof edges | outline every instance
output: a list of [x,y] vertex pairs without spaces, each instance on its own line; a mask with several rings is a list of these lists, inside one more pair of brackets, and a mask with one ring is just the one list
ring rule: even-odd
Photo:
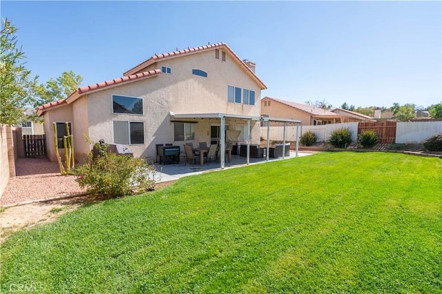
[[59,137],[70,123],[79,161],[90,151],[85,136],[125,144],[135,157],[154,160],[155,144],[180,146],[183,155],[187,142],[216,144],[224,139],[224,129],[247,134],[248,124],[251,143],[259,144],[261,90],[266,88],[254,63],[241,60],[226,43],[215,43],[155,55],[123,77],[39,106],[37,115],[44,116],[51,161],[56,160],[54,122]]

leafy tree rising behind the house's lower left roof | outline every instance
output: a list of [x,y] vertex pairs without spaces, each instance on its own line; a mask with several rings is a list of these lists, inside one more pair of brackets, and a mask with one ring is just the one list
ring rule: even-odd
[[45,84],[37,86],[37,99],[35,107],[58,101],[68,97],[80,86],[83,77],[72,70],[64,71],[57,79],[52,79]]

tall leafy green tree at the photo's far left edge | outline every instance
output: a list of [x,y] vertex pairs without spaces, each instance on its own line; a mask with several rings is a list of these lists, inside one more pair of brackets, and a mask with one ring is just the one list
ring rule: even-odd
[[34,102],[37,77],[24,67],[25,58],[17,48],[17,28],[8,19],[1,23],[0,37],[0,124],[19,124],[26,120],[23,108]]

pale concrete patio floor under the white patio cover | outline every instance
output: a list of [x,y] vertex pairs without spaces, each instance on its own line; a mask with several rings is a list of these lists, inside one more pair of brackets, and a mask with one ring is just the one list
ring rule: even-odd
[[[307,156],[307,155],[312,155],[311,153],[298,153],[298,157],[303,157],[303,156]],[[290,156],[289,157],[285,157],[284,159],[282,157],[278,157],[278,158],[269,158],[268,162],[271,161],[278,161],[278,160],[287,160],[287,159],[294,159],[294,158],[298,158],[296,157],[296,153],[295,152],[290,152]],[[241,157],[239,155],[232,155],[232,160],[226,161],[225,162],[225,167],[224,169],[227,168],[239,168],[242,166],[247,166],[247,162],[246,162],[246,157]],[[250,158],[250,164],[265,164],[266,161],[266,157],[262,157],[262,158]],[[156,175],[156,179],[157,182],[169,182],[169,181],[174,181],[177,179],[180,179],[181,177],[186,177],[189,175],[198,175],[200,173],[206,173],[206,172],[210,172],[210,171],[215,171],[215,170],[222,170],[220,168],[220,163],[215,162],[215,161],[211,161],[209,162],[209,164],[204,163],[204,166],[200,166],[200,164],[185,164],[185,161],[182,160],[180,161],[180,164],[157,164],[155,163],[155,166],[157,167],[157,175]]]

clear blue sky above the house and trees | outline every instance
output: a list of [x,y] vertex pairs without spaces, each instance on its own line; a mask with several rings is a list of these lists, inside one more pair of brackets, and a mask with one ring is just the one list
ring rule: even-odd
[[1,1],[41,83],[122,77],[155,53],[225,42],[262,97],[390,107],[442,99],[441,1]]

